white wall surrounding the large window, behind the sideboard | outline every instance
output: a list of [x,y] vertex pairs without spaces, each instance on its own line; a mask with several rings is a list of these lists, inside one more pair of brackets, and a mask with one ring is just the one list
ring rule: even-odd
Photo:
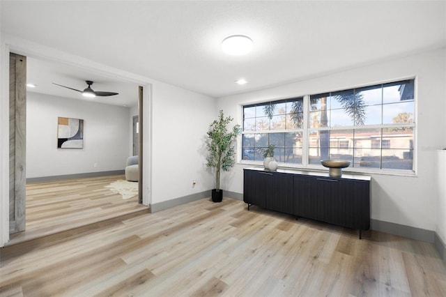
[[[224,109],[238,119],[240,105],[247,103],[416,76],[417,176],[372,174],[371,218],[435,230],[438,200],[436,150],[446,146],[445,53],[445,49],[432,50],[271,89],[219,98],[217,109]],[[243,192],[243,167],[247,166],[239,164],[231,172],[233,176],[228,179],[226,190]]]

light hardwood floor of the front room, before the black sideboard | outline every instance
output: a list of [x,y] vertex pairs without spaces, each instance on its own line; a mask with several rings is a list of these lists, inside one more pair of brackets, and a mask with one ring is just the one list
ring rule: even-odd
[[224,198],[1,250],[3,296],[446,296],[430,243]]

